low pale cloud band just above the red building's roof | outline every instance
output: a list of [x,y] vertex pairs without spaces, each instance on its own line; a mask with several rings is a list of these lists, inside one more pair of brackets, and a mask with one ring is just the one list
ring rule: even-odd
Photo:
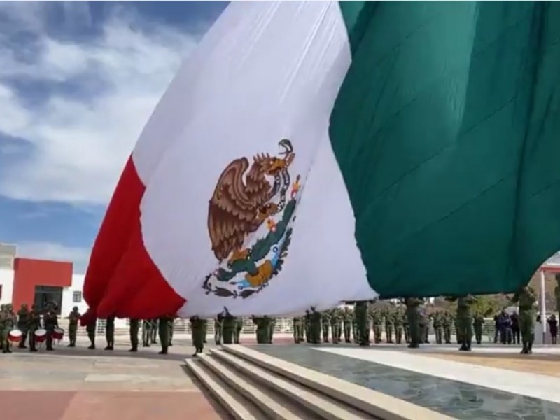
[[18,244],[18,257],[73,262],[73,271],[84,273],[90,260],[90,249],[51,242],[22,242]]

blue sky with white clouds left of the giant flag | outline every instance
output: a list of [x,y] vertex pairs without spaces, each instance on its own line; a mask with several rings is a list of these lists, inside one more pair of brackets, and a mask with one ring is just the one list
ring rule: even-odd
[[225,2],[0,2],[0,242],[84,272],[120,171]]

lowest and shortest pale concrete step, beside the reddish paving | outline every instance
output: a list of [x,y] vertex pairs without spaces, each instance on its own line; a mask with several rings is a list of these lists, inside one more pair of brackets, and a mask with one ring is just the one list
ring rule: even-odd
[[213,371],[209,370],[202,360],[186,359],[186,366],[198,380],[210,391],[211,395],[227,410],[236,420],[266,420],[265,414],[246,399],[235,389],[225,384]]

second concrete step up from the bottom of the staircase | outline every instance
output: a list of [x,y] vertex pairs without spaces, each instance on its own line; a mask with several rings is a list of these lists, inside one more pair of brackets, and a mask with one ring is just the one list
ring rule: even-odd
[[276,420],[321,420],[322,417],[316,416],[314,412],[310,412],[305,407],[297,404],[292,398],[286,398],[281,393],[269,386],[262,386],[253,377],[244,372],[236,370],[230,363],[224,359],[217,358],[214,353],[203,355],[200,360],[215,374],[233,388],[237,393],[258,407],[265,414],[266,419]]

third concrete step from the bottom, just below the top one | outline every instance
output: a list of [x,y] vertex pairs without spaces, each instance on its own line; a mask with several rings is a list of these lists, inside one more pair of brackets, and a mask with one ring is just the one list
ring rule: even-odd
[[372,416],[359,412],[353,407],[344,406],[328,396],[311,390],[307,386],[290,381],[258,365],[248,362],[239,356],[220,349],[212,349],[211,356],[223,361],[224,365],[232,367],[242,377],[252,379],[262,391],[273,391],[276,399],[280,395],[288,401],[297,402],[300,410],[300,419],[325,419],[325,420],[366,420]]

